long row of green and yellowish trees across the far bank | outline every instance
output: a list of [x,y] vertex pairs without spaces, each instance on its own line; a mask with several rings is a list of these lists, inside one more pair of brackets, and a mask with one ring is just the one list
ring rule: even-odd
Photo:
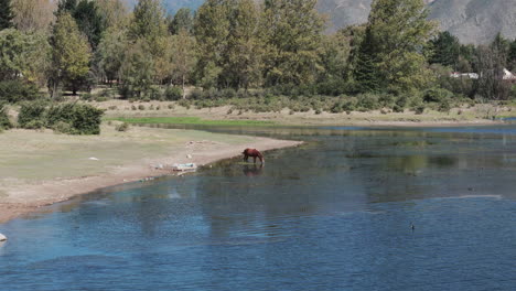
[[[315,4],[206,0],[171,15],[160,0],[132,11],[122,0],[0,0],[0,98],[45,86],[58,98],[98,84],[135,99],[185,98],[186,85],[424,100],[515,94],[502,75],[516,71],[516,40],[461,44],[428,20],[422,0],[374,0],[367,23],[329,34]],[[481,77],[451,79],[453,71]]]

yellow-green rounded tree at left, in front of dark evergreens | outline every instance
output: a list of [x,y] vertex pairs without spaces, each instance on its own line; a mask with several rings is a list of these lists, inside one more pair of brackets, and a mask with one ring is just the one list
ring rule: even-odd
[[52,76],[51,91],[53,97],[61,82],[71,86],[75,95],[86,82],[92,56],[88,42],[80,34],[75,20],[69,13],[57,15],[51,37]]

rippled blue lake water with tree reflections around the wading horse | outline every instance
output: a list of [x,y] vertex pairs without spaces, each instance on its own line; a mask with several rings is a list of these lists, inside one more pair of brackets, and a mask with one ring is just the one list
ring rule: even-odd
[[307,143],[0,225],[1,290],[516,290],[516,126],[211,130]]

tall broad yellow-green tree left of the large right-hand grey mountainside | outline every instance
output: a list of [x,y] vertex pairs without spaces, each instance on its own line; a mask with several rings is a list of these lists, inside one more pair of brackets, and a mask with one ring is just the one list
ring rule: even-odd
[[[381,90],[394,93],[420,89],[431,80],[423,48],[436,33],[436,23],[427,20],[422,0],[375,0],[368,18],[359,58],[373,62]],[[368,62],[367,65],[370,65]],[[358,66],[355,77],[361,78]],[[362,79],[359,82],[368,82]],[[362,88],[367,88],[362,84]]]

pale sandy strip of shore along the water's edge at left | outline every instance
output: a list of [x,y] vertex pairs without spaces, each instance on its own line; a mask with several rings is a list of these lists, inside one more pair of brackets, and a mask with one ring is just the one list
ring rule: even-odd
[[[103,174],[86,176],[51,179],[43,181],[22,180],[2,185],[0,195],[0,223],[33,212],[42,206],[69,200],[99,188],[139,181],[146,177],[174,175],[168,165],[173,163],[196,163],[206,165],[218,160],[241,155],[245,148],[257,148],[261,151],[295,147],[301,142],[275,140],[268,138],[247,138],[236,144],[214,142],[211,140],[189,141],[183,147],[173,148],[173,152],[155,158],[138,159],[131,163],[109,168]],[[191,158],[189,158],[191,157]],[[164,165],[159,169],[157,165]],[[34,171],[45,171],[35,169]],[[12,182],[12,181],[11,181]]]

